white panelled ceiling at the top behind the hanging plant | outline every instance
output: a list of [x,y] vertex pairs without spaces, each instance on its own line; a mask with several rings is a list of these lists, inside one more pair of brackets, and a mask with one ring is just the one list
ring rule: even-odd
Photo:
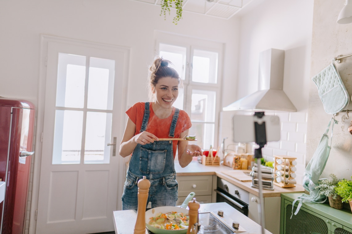
[[[161,6],[162,0],[131,0]],[[253,0],[183,0],[182,11],[230,19]],[[172,5],[174,8],[174,5]]]

